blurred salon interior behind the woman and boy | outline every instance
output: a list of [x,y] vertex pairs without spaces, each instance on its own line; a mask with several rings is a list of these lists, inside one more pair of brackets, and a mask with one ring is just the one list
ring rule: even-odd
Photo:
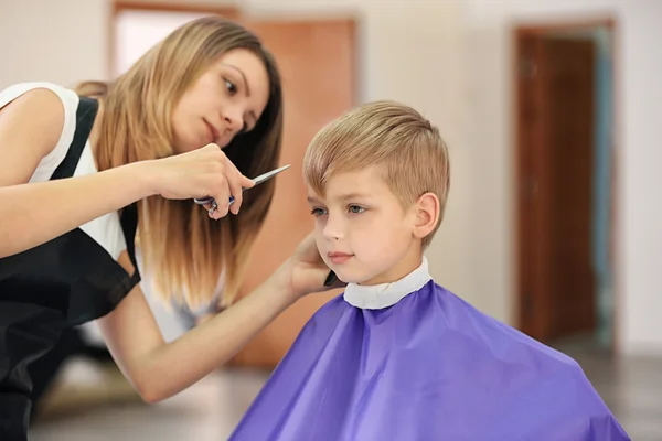
[[[180,24],[254,30],[284,77],[276,201],[243,292],[312,228],[300,166],[318,129],[374,99],[414,106],[451,152],[436,281],[575,357],[633,440],[662,440],[662,1],[0,0],[0,88],[111,79]],[[652,192],[652,193],[647,193]],[[220,440],[310,315],[286,311],[227,366],[140,401],[95,324],[39,404],[33,440]],[[146,289],[168,340],[185,326]]]

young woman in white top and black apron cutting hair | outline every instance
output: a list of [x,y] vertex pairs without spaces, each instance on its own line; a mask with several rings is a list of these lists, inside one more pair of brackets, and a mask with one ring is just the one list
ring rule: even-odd
[[[274,182],[242,187],[277,166],[281,111],[273,57],[221,18],[178,29],[108,86],[0,93],[0,439],[26,439],[29,365],[66,329],[98,319],[122,373],[154,402],[325,289],[309,236],[255,292],[166,344],[138,284],[136,238],[166,298],[203,304],[223,280],[233,303]],[[218,208],[191,201],[204,196]]]

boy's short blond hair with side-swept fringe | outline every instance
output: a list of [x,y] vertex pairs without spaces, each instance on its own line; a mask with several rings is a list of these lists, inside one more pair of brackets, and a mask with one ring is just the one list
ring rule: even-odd
[[439,198],[439,222],[423,240],[427,247],[444,218],[450,187],[448,148],[439,130],[399,103],[359,106],[316,135],[303,158],[303,178],[324,196],[334,174],[373,164],[380,166],[384,182],[404,208],[428,192]]

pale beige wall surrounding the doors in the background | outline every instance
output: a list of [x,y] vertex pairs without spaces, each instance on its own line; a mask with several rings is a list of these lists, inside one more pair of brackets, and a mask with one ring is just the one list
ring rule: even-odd
[[[226,1],[206,0],[206,3]],[[63,8],[63,4],[67,4]],[[110,0],[0,0],[0,87],[18,80],[72,84],[108,72]],[[425,112],[450,144],[447,218],[428,257],[433,276],[513,323],[512,106],[509,25],[548,13],[615,11],[623,62],[617,276],[627,352],[662,351],[662,41],[656,0],[244,0],[261,17],[363,19],[361,100],[392,98]],[[74,12],[78,17],[74,17]],[[573,15],[570,15],[573,17]],[[627,99],[626,99],[627,98]]]

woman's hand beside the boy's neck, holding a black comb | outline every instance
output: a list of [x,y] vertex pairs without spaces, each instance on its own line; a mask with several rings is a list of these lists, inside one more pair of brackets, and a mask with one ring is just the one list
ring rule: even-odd
[[[293,301],[312,292],[328,291],[344,287],[339,280],[332,279],[331,270],[320,256],[314,243],[314,235],[310,233],[297,247],[295,254],[276,271],[281,289]],[[332,280],[330,284],[324,284]]]

